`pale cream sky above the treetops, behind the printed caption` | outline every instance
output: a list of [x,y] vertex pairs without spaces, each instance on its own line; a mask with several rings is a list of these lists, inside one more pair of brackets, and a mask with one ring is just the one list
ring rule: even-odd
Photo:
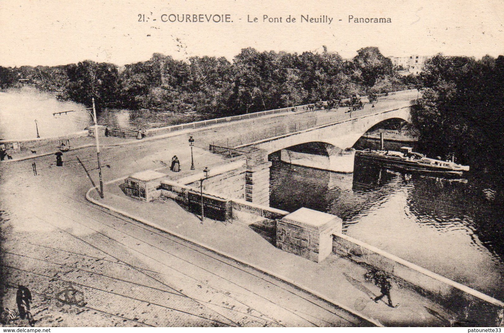
[[[170,14],[203,14],[204,20],[227,14],[232,22],[162,22]],[[282,22],[264,21],[264,15]],[[332,22],[300,22],[301,15]],[[289,16],[296,22],[286,22]],[[391,23],[354,23],[349,16]],[[258,22],[248,22],[254,18]],[[504,54],[504,0],[4,0],[0,35],[2,66],[86,59],[123,65],[154,52],[232,60],[245,47],[301,53],[322,52],[323,45],[344,58],[365,46],[386,56],[442,52],[479,58]]]

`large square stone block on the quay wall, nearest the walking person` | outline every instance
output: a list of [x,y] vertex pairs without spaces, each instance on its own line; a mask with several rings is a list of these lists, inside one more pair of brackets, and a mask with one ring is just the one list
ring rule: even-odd
[[277,247],[321,262],[331,254],[332,234],[341,233],[342,224],[336,215],[300,208],[277,222]]

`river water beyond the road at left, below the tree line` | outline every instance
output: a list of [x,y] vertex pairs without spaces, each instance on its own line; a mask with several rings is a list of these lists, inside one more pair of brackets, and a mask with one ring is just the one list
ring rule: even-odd
[[[0,140],[31,140],[73,134],[93,124],[85,110],[54,116],[53,113],[86,108],[71,101],[59,101],[51,93],[32,87],[0,91]],[[128,110],[97,107],[98,123],[114,128],[136,130],[201,120],[181,113]],[[37,120],[37,125],[35,124]]]

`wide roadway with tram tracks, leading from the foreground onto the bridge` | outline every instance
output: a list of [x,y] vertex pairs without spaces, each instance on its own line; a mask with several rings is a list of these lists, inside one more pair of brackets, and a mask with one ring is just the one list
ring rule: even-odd
[[[399,97],[375,109],[405,105],[406,96]],[[173,155],[181,161],[181,174],[190,174],[189,135],[196,139],[198,172],[223,162],[208,152],[217,138],[313,114],[327,116],[325,111],[269,116],[152,141],[103,138],[103,178],[161,167]],[[19,283],[34,295],[38,326],[363,324],[285,283],[86,202],[86,191],[98,179],[95,156],[89,147],[65,153],[64,167],[55,166],[54,156],[0,164],[4,306],[15,307],[12,286]],[[54,299],[69,283],[83,292],[85,305]]]

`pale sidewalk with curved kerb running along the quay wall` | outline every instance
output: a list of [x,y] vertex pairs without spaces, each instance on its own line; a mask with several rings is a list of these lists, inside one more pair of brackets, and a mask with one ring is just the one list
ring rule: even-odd
[[[171,175],[173,180],[180,178],[175,173]],[[347,259],[331,254],[322,263],[309,261],[276,248],[240,221],[224,224],[207,218],[202,224],[171,199],[145,203],[130,198],[119,188],[121,182],[106,184],[103,199],[96,190],[89,191],[89,198],[98,205],[291,283],[378,325],[449,326],[453,318],[448,309],[395,283],[392,300],[401,305],[391,308],[383,301],[375,303],[371,298],[380,295],[379,288],[365,282],[366,270]]]

